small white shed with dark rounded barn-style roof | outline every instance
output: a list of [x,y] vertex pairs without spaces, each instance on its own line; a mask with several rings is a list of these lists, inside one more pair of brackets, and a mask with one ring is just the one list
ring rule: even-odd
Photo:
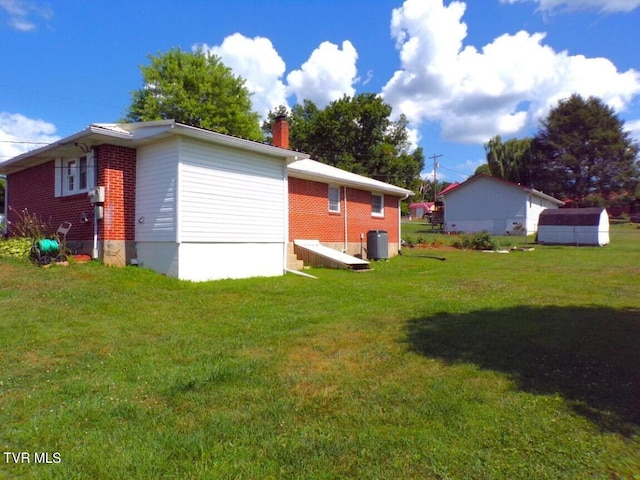
[[608,245],[609,214],[598,207],[543,210],[538,222],[538,243]]

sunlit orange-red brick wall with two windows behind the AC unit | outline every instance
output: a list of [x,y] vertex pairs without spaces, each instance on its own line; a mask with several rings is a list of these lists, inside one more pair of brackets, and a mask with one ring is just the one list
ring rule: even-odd
[[[289,177],[289,241],[317,239],[328,244],[344,243],[345,195],[340,188],[340,212],[329,212],[329,186],[326,183]],[[347,188],[347,240],[359,244],[369,230],[385,230],[391,244],[399,242],[398,197],[384,196],[384,216],[371,215],[371,192]],[[356,247],[351,245],[351,250]]]

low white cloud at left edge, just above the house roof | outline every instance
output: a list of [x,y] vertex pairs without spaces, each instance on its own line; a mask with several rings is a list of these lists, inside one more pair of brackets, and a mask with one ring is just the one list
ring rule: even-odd
[[59,140],[55,132],[55,125],[44,120],[0,112],[0,162]]

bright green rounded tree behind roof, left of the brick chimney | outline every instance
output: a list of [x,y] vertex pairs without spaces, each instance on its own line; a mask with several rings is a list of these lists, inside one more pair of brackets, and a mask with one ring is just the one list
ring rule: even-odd
[[125,121],[175,119],[220,133],[262,139],[259,116],[252,111],[245,81],[220,58],[202,50],[174,48],[149,55],[140,67],[144,85],[132,92]]

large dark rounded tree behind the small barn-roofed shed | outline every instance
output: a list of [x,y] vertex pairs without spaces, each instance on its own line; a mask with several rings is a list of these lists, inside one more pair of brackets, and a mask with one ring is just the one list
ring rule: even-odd
[[578,206],[608,205],[638,185],[638,143],[599,98],[561,100],[542,120],[534,144],[536,188]]

